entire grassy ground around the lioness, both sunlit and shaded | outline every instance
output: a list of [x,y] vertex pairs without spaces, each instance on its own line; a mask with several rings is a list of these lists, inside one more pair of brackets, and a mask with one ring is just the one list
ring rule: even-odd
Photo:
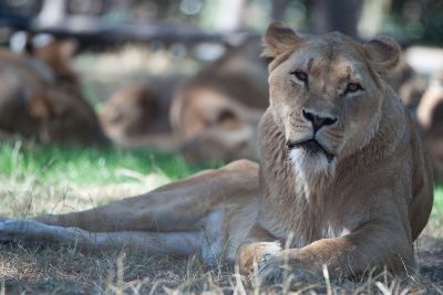
[[[152,190],[200,170],[176,156],[110,149],[70,150],[56,147],[0,146],[0,217],[29,217],[78,211],[124,196]],[[331,282],[338,294],[442,294],[443,193],[435,187],[434,210],[418,242],[422,276],[392,283],[384,276],[361,282]],[[0,244],[2,294],[166,294],[166,293],[327,293],[324,277],[287,286],[258,288],[243,284],[233,265],[207,267],[196,259],[152,257],[143,253],[96,250],[81,252],[66,246]],[[3,283],[4,282],[4,283]],[[270,288],[270,289],[269,289]],[[404,294],[404,293],[403,293]]]

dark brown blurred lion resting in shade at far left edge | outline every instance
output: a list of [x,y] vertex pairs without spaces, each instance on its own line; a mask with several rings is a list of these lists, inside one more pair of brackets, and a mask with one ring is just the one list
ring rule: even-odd
[[0,139],[20,135],[40,143],[106,143],[64,46],[53,41],[29,54],[0,51]]

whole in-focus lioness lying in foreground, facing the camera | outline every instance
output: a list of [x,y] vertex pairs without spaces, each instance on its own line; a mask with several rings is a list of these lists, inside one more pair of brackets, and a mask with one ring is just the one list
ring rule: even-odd
[[[236,261],[243,274],[360,275],[414,268],[432,175],[400,98],[381,75],[396,42],[340,33],[300,38],[279,23],[265,38],[270,107],[259,125],[261,165],[240,160],[144,196],[62,215],[0,223],[3,240]],[[282,250],[282,245],[288,249]]]

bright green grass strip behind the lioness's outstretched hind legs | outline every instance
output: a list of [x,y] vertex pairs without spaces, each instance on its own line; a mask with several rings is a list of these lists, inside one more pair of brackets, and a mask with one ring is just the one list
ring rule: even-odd
[[0,145],[0,176],[17,181],[30,176],[41,181],[76,185],[130,181],[131,173],[122,173],[122,170],[140,175],[161,172],[176,180],[217,166],[219,164],[188,165],[181,156],[148,149],[38,146],[20,141]]

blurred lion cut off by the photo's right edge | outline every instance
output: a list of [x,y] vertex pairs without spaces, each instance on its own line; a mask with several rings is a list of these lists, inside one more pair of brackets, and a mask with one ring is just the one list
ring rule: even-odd
[[434,177],[443,182],[443,71],[433,75],[416,112],[424,146],[434,167]]

